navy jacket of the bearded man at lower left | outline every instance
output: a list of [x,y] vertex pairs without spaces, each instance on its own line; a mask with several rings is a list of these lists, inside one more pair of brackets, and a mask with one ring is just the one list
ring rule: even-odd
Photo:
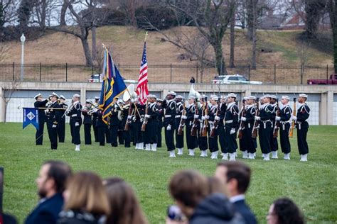
[[25,224],[53,224],[58,220],[58,213],[63,207],[63,197],[57,193],[46,199],[31,212],[26,218]]

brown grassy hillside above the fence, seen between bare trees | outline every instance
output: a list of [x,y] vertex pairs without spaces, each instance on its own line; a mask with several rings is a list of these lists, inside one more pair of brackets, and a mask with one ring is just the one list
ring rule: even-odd
[[[193,29],[193,28],[183,28]],[[171,30],[166,30],[171,32]],[[191,32],[193,33],[193,32]],[[306,55],[309,65],[331,65],[331,38],[321,38],[307,44],[301,40],[302,30],[258,30],[257,63],[258,65],[299,65],[299,55]],[[145,31],[125,26],[105,26],[97,29],[97,43],[112,46],[114,60],[124,65],[138,65],[141,60],[142,44]],[[323,36],[329,36],[325,34]],[[195,65],[190,60],[179,60],[183,53],[171,43],[161,41],[162,35],[149,33],[147,53],[149,65]],[[235,33],[235,64],[250,63],[251,43],[245,37],[245,30]],[[91,43],[91,40],[90,40]],[[20,62],[21,43],[19,41],[0,43],[10,48],[6,62]],[[224,57],[228,63],[229,33],[223,41]],[[48,33],[37,40],[26,42],[25,62],[42,64],[84,64],[80,39],[64,33]]]

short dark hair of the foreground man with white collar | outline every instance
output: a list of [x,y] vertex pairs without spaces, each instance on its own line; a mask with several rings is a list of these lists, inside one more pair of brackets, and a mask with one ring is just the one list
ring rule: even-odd
[[220,162],[219,167],[225,167],[225,182],[228,183],[232,179],[237,181],[237,191],[245,194],[250,185],[251,169],[243,162]]

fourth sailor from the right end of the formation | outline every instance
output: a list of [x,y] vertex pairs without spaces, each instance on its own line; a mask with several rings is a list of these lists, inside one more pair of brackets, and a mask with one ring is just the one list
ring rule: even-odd
[[270,153],[270,135],[272,135],[272,106],[270,105],[270,95],[263,97],[263,104],[260,107],[260,116],[255,116],[256,121],[260,121],[259,140],[262,151],[263,160],[269,161]]

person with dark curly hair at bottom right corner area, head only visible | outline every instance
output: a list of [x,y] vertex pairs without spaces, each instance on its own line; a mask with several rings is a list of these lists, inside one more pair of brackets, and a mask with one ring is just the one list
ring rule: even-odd
[[267,215],[268,224],[304,224],[304,218],[296,204],[289,198],[279,198],[272,203]]

